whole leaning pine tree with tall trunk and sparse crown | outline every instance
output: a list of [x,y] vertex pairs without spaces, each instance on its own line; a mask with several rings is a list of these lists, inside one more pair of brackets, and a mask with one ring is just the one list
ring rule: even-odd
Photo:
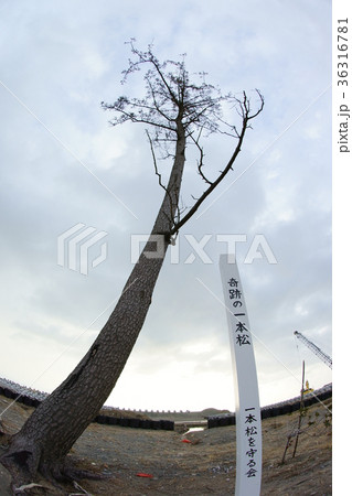
[[[250,121],[264,107],[258,90],[255,90],[256,108],[252,109],[245,91],[241,98],[231,94],[222,95],[216,87],[205,82],[205,74],[195,75],[196,82],[192,82],[185,69],[184,57],[179,62],[160,62],[151,46],[142,52],[130,41],[130,48],[131,60],[122,73],[122,83],[134,73],[142,71],[145,97],[121,96],[114,104],[102,103],[102,106],[116,112],[111,120],[114,126],[128,121],[147,126],[154,172],[164,197],[150,238],[115,310],[90,349],[11,438],[1,463],[11,472],[13,484],[33,481],[38,472],[51,479],[72,475],[65,463],[66,454],[98,414],[125,367],[143,325],[168,246],[173,242],[180,227],[232,170]],[[239,125],[224,120],[224,105],[232,110]],[[222,133],[234,141],[228,162],[214,180],[204,173],[201,143],[204,134],[212,133]],[[193,206],[181,209],[180,188],[186,144],[193,145],[199,153],[195,166],[205,183],[205,190]],[[163,159],[170,159],[172,164],[166,185],[158,170],[160,154]]]

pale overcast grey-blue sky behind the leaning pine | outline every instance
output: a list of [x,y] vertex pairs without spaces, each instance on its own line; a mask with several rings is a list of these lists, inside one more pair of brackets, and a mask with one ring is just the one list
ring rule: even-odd
[[[45,391],[65,379],[122,290],[136,235],[152,227],[162,190],[145,129],[111,127],[114,115],[100,108],[126,91],[141,96],[138,74],[120,86],[125,42],[136,37],[141,50],[153,43],[160,60],[186,53],[189,72],[205,71],[224,93],[245,89],[255,101],[259,88],[265,108],[234,171],[168,254],[107,403],[234,410],[218,270],[224,235],[246,239],[236,255],[260,403],[299,395],[303,359],[311,387],[331,381],[327,365],[294,336],[297,330],[331,355],[331,4],[263,6],[1,2],[0,377]],[[224,137],[204,142],[210,173],[233,145]],[[203,187],[189,153],[185,206]],[[167,177],[170,163],[161,170]],[[77,224],[106,233],[88,261],[103,259],[105,246],[106,259],[87,274],[70,269],[66,251],[60,265],[57,239]]]

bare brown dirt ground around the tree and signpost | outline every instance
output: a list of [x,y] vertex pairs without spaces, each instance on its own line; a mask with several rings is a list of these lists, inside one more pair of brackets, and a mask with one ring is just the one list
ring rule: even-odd
[[[0,411],[9,403],[0,397]],[[331,410],[331,400],[324,403]],[[31,411],[18,403],[11,407],[3,416],[6,429],[19,430]],[[331,423],[331,414],[322,405],[310,407],[302,420],[296,456],[292,457],[294,441],[282,464],[288,435],[298,424],[298,412],[263,421],[263,496],[332,494]],[[235,427],[185,434],[93,423],[73,446],[70,459],[106,478],[82,479],[76,486],[61,486],[63,492],[45,481],[36,481],[46,489],[36,487],[22,494],[233,496],[235,433]],[[184,439],[191,442],[183,442]],[[0,454],[3,450],[0,438]],[[1,496],[11,494],[6,489],[7,477],[0,470]]]

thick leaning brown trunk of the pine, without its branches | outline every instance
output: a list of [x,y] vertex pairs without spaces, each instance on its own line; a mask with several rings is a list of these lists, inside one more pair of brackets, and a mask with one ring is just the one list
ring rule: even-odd
[[149,239],[110,317],[70,376],[32,413],[11,441],[1,462],[24,481],[39,471],[60,478],[74,442],[98,414],[111,392],[143,325],[169,244],[179,203],[185,136],[178,127],[175,157],[169,184],[151,235],[164,235],[162,252],[151,258]]

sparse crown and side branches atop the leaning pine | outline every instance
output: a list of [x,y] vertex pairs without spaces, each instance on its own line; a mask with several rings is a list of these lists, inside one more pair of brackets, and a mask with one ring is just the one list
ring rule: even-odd
[[[170,152],[170,144],[178,143],[182,136],[183,139],[196,147],[199,152],[198,172],[207,186],[186,215],[182,219],[178,215],[178,218],[174,219],[170,233],[173,235],[232,170],[241,151],[245,132],[250,128],[250,121],[264,108],[264,97],[256,89],[257,101],[253,108],[246,91],[242,93],[241,98],[231,93],[223,95],[217,87],[206,83],[206,73],[198,73],[194,75],[195,80],[191,79],[185,68],[185,55],[182,55],[179,62],[170,60],[160,62],[152,52],[152,45],[149,45],[148,50],[143,52],[135,46],[134,39],[128,43],[132,58],[129,60],[128,68],[122,72],[121,84],[124,85],[134,73],[143,69],[146,91],[142,98],[120,96],[114,104],[102,101],[104,109],[117,112],[117,117],[110,121],[111,125],[116,126],[127,121],[147,125],[156,173],[163,190],[167,187],[161,183],[158,172],[154,147],[162,149],[164,152],[162,158],[174,157]],[[239,126],[225,120],[223,117],[225,106],[226,115],[236,117],[237,121],[239,116]],[[201,144],[203,134],[212,133],[226,134],[235,140],[234,152],[215,180],[210,180],[203,172],[204,152]]]

